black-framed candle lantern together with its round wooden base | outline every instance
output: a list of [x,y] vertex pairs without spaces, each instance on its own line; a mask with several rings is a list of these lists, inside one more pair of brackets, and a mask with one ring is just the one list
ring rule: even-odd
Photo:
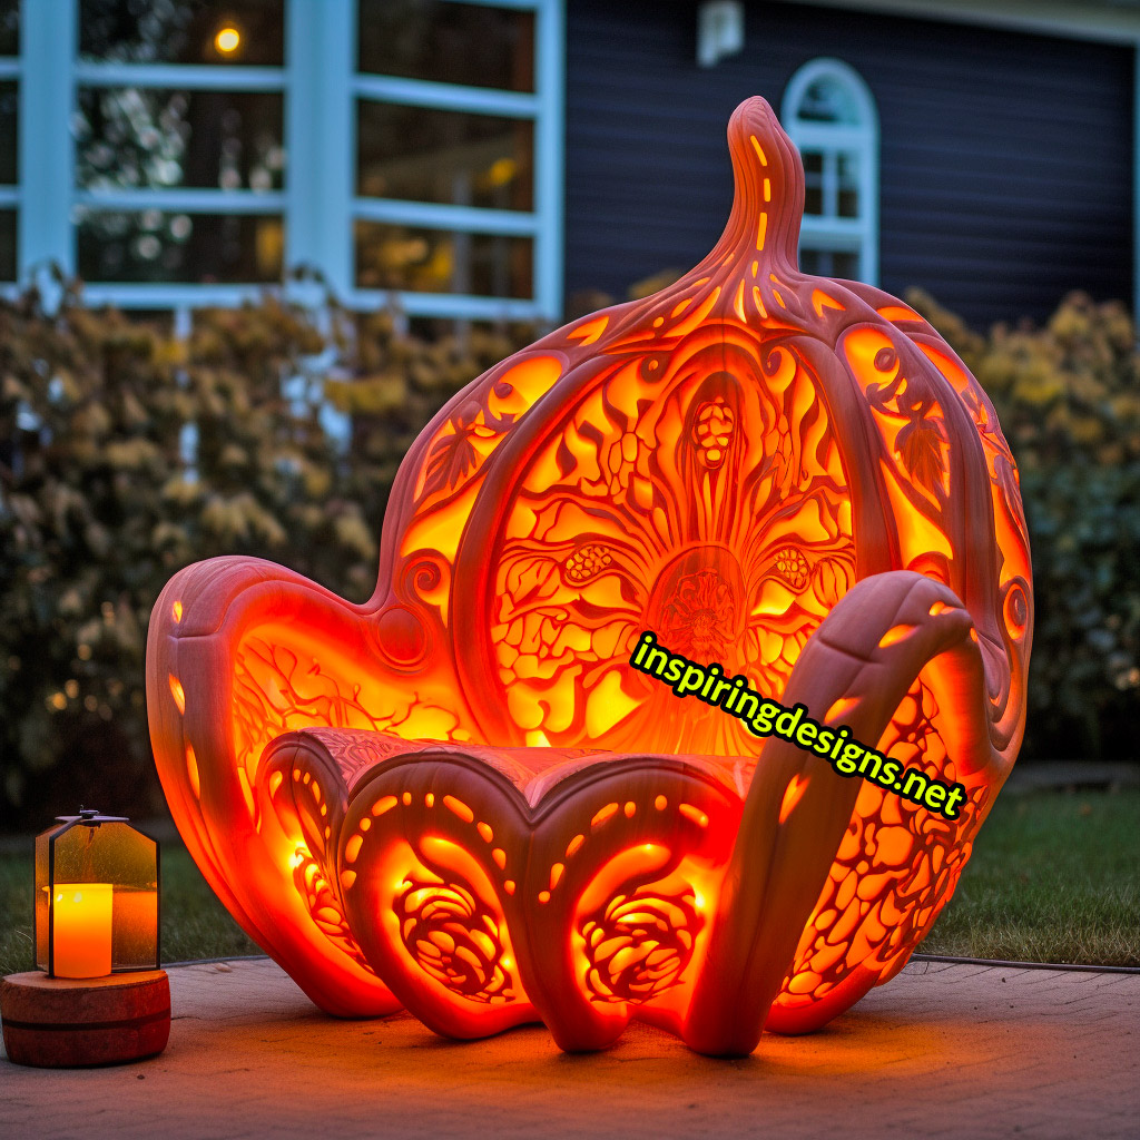
[[161,1052],[170,986],[160,968],[158,845],[83,809],[35,839],[39,971],[0,983],[5,1048],[21,1065],[105,1065]]

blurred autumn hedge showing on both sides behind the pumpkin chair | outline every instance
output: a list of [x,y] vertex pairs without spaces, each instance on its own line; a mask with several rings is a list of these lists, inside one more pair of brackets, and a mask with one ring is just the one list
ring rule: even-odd
[[[1023,762],[1132,755],[1140,689],[1140,357],[1117,304],[971,332],[909,300],[990,392],[1021,471],[1037,597]],[[0,304],[0,805],[162,811],[146,727],[150,606],[223,553],[356,601],[396,469],[443,401],[532,329],[400,329],[272,294],[187,341],[74,294]],[[332,417],[332,418],[331,418]],[[329,424],[339,430],[329,431]]]

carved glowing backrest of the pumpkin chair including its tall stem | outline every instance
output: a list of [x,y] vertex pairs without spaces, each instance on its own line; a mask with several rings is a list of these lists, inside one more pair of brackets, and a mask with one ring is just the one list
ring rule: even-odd
[[628,667],[642,630],[777,698],[856,580],[917,570],[974,617],[1012,755],[1029,565],[993,408],[918,314],[800,272],[803,168],[763,99],[728,144],[735,201],[699,266],[508,358],[424,430],[374,601],[489,742],[755,755]]

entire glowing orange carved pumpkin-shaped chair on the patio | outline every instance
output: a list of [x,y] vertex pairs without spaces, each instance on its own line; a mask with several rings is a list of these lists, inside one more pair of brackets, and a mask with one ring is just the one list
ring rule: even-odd
[[[370,601],[231,557],[155,609],[174,819],[329,1012],[749,1052],[902,968],[1012,766],[1033,601],[993,408],[906,306],[799,271],[763,99],[728,142],[695,269],[424,430]],[[643,629],[963,783],[959,817],[678,701],[628,663]]]

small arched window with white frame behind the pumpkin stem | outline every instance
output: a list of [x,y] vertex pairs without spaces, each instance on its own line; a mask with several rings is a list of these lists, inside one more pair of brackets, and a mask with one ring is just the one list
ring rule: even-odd
[[784,91],[783,125],[804,157],[800,268],[878,284],[879,116],[858,73],[812,59]]

